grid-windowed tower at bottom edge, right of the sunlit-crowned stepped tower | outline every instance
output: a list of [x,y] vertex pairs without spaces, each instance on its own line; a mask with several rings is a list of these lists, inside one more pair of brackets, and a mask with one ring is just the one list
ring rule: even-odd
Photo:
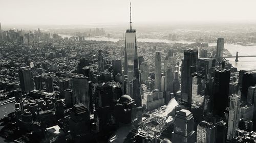
[[215,143],[216,128],[214,124],[202,121],[197,126],[197,143]]

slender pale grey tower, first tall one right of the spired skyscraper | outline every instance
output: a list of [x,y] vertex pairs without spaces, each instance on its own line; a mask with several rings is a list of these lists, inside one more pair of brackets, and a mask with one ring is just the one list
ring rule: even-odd
[[162,91],[162,62],[161,52],[157,51],[155,56],[155,89]]

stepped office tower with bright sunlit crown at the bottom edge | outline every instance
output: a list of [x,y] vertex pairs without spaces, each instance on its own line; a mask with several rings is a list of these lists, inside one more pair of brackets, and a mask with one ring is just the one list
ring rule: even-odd
[[174,131],[172,132],[173,143],[194,143],[195,131],[194,118],[189,110],[181,109],[177,112],[174,120]]

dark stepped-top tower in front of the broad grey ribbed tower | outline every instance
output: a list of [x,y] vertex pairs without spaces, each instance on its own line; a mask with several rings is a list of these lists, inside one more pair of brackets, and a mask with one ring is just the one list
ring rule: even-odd
[[72,142],[90,140],[90,112],[82,103],[75,104],[70,110],[69,128]]

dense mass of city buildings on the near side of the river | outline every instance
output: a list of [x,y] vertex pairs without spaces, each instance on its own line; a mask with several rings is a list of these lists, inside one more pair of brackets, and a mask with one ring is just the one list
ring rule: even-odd
[[15,97],[15,126],[2,129],[13,130],[5,137],[256,142],[256,73],[237,72],[223,59],[224,38],[212,49],[201,43],[139,48],[131,24],[124,41],[81,39],[0,25],[0,94]]

